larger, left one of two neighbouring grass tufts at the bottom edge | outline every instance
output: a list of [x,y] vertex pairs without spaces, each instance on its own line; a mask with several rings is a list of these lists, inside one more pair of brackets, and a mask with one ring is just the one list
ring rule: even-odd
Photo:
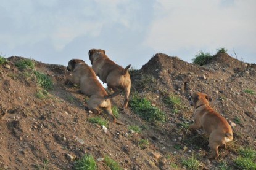
[[93,170],[97,169],[96,161],[91,155],[83,155],[80,160],[75,161],[74,169],[76,170]]

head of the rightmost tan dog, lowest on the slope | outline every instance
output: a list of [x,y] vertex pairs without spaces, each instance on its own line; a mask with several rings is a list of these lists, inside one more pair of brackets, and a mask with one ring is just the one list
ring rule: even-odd
[[197,107],[202,104],[209,104],[210,98],[205,93],[194,92],[191,96],[189,96],[189,104],[191,106]]

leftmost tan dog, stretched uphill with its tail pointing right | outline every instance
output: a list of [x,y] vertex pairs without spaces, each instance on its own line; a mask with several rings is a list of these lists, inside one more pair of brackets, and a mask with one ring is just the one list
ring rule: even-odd
[[116,122],[111,110],[110,99],[113,96],[107,96],[105,88],[97,80],[93,69],[83,60],[72,59],[68,62],[68,71],[73,72],[73,76],[68,77],[72,83],[79,84],[80,90],[86,96],[89,96],[87,108],[94,114],[99,114],[99,109],[107,112],[109,117]]

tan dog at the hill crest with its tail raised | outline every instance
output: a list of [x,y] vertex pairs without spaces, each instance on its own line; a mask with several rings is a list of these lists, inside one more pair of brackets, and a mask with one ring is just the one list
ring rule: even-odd
[[118,90],[124,91],[125,101],[123,109],[126,109],[131,90],[131,78],[128,72],[131,65],[126,66],[124,69],[118,64],[115,64],[105,55],[105,50],[89,50],[89,59],[94,72],[103,83],[107,83],[107,86],[114,90],[115,93],[118,93]]

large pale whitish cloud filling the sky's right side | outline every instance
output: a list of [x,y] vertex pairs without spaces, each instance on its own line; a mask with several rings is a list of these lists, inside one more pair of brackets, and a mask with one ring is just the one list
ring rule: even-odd
[[167,1],[155,6],[145,45],[160,51],[225,46],[250,47],[256,43],[256,1]]

